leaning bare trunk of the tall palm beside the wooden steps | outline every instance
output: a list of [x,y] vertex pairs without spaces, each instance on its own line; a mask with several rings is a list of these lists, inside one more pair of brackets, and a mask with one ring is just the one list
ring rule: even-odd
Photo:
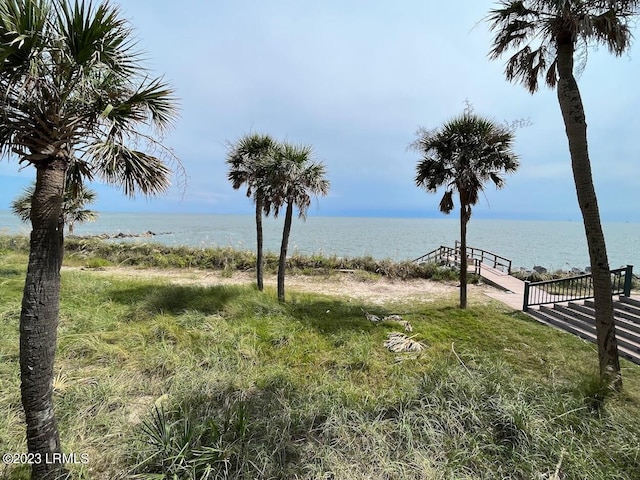
[[558,42],[558,102],[569,140],[571,168],[589,247],[600,378],[610,388],[619,391],[622,388],[622,377],[613,321],[611,272],[591,175],[587,122],[580,90],[573,76],[573,53],[574,46],[571,40]]

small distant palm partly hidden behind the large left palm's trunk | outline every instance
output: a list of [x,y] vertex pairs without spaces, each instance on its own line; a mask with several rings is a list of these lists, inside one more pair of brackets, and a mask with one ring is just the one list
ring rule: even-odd
[[[31,202],[35,189],[36,185],[34,183],[11,202],[11,211],[23,222],[28,222],[31,218]],[[98,214],[85,208],[87,204],[93,203],[95,200],[95,191],[84,187],[74,191],[69,188],[67,183],[62,201],[62,218],[69,235],[73,235],[76,223],[94,222],[96,220]]]

